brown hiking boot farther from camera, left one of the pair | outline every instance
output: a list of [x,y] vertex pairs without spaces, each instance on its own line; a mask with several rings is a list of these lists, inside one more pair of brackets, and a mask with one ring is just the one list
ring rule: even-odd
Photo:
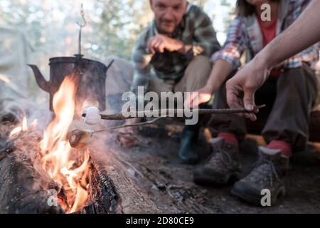
[[194,182],[199,185],[222,185],[228,183],[230,177],[238,177],[238,146],[225,142],[223,138],[213,138],[210,143],[212,155],[205,164],[194,170]]

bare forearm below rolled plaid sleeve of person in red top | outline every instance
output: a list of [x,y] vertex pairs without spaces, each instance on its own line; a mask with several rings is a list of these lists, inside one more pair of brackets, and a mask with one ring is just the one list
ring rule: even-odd
[[206,88],[208,88],[211,93],[214,93],[216,90],[218,90],[218,88],[220,88],[222,83],[232,72],[233,66],[231,63],[222,59],[218,59],[213,65],[210,77],[206,83]]

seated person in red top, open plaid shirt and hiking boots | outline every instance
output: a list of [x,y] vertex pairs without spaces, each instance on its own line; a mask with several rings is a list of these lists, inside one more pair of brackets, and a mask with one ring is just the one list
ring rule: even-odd
[[[260,17],[262,4],[271,6],[270,21],[262,21]],[[238,16],[229,26],[225,46],[213,56],[215,64],[208,83],[199,90],[200,102],[206,102],[203,98],[206,94],[215,93],[213,108],[228,108],[225,81],[236,72],[242,53],[246,51],[247,61],[250,61],[292,24],[307,4],[307,0],[238,0]],[[310,66],[318,58],[316,44],[287,59],[270,71],[270,77],[255,93],[255,102],[267,105],[257,114],[257,118],[267,115],[262,130],[267,146],[259,147],[259,160],[247,176],[235,182],[231,190],[233,195],[253,204],[260,204],[261,192],[265,189],[271,192],[272,204],[284,195],[289,157],[292,152],[306,149],[309,138],[309,117],[319,90]],[[194,180],[206,185],[226,184],[230,177],[241,172],[238,145],[245,138],[245,119],[238,115],[213,115],[212,127],[213,153],[195,170]]]

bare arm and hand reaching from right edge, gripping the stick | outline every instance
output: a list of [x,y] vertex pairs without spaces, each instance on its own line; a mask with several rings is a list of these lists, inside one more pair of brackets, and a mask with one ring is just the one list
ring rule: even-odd
[[[267,80],[278,63],[320,41],[320,1],[311,1],[301,16],[281,35],[274,38],[250,63],[227,82],[230,108],[255,108],[255,91]],[[254,114],[247,118],[255,120]]]

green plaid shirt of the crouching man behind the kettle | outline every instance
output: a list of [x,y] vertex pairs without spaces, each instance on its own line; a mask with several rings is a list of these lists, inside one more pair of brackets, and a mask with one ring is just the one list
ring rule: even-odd
[[144,29],[134,46],[132,60],[135,71],[131,87],[133,92],[137,91],[138,86],[144,86],[145,90],[148,88],[151,73],[155,73],[164,81],[178,81],[193,56],[201,54],[210,58],[215,51],[220,49],[210,18],[202,9],[192,4],[188,4],[181,24],[176,32],[170,36],[183,41],[186,46],[192,47],[186,55],[177,51],[164,51],[164,53],[152,55],[147,48],[147,43],[157,33],[156,24],[153,21]]

